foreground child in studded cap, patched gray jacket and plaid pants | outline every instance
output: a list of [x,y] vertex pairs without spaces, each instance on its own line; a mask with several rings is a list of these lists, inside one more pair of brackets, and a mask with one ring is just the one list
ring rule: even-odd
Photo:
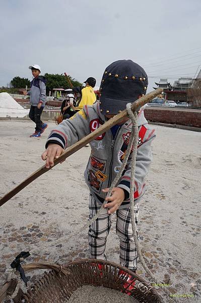
[[[85,106],[71,119],[65,120],[52,130],[42,159],[46,167],[53,166],[64,149],[96,130],[114,115],[135,102],[146,93],[148,85],[144,69],[131,60],[119,60],[110,64],[102,77],[100,102]],[[135,216],[139,216],[139,203],[145,192],[144,179],[152,160],[151,142],[155,137],[143,111],[138,115],[139,143],[135,172]],[[119,171],[127,149],[131,131],[131,120],[126,117],[121,123],[99,135],[91,145],[91,155],[85,171],[85,181],[90,189],[90,219],[100,209],[106,193]],[[111,227],[111,214],[116,212],[116,232],[120,240],[120,264],[132,271],[137,269],[137,251],[132,235],[129,192],[130,159],[112,195],[106,198],[105,210],[89,227],[89,249],[91,258],[105,260],[105,245]]]

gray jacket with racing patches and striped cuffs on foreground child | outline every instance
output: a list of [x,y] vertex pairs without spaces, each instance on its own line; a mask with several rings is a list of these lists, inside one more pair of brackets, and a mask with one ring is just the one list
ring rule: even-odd
[[[93,106],[85,106],[82,111],[71,119],[63,120],[52,130],[46,146],[51,141],[63,148],[71,146],[93,132],[104,122],[105,116],[100,113],[99,103]],[[138,126],[139,142],[135,173],[135,203],[145,192],[144,179],[152,161],[151,142],[155,138],[155,130],[150,128],[144,117],[144,111],[141,111],[138,115]],[[119,171],[127,149],[130,131],[131,120],[128,120],[119,128],[114,139],[111,131],[108,130],[90,143],[91,155],[84,176],[91,193],[100,203],[103,202],[106,196],[101,190],[110,187]],[[120,209],[127,208],[129,205],[130,162],[131,156],[117,185],[117,187],[123,188],[128,193],[128,198],[123,201]]]

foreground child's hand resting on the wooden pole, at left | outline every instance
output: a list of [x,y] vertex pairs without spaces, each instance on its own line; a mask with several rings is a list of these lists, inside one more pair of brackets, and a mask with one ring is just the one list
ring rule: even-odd
[[63,151],[64,149],[60,145],[50,143],[47,149],[41,155],[42,160],[46,161],[45,167],[49,168],[50,166],[54,166],[54,159],[58,159],[58,157],[63,153]]

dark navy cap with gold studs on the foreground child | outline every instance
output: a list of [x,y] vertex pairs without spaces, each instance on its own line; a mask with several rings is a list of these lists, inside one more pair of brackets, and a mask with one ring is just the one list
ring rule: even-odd
[[100,110],[103,115],[118,114],[127,103],[146,94],[148,77],[144,69],[132,60],[111,63],[100,85]]

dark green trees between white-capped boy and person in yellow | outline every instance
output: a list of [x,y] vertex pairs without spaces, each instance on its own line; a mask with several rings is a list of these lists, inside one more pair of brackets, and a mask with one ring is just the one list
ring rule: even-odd
[[[47,79],[46,83],[46,90],[52,90],[53,88],[71,88],[69,82],[66,80],[64,75],[59,75],[59,74],[44,74],[45,78]],[[75,80],[71,76],[69,76],[71,83],[73,86],[82,86],[82,83],[79,81]]]

